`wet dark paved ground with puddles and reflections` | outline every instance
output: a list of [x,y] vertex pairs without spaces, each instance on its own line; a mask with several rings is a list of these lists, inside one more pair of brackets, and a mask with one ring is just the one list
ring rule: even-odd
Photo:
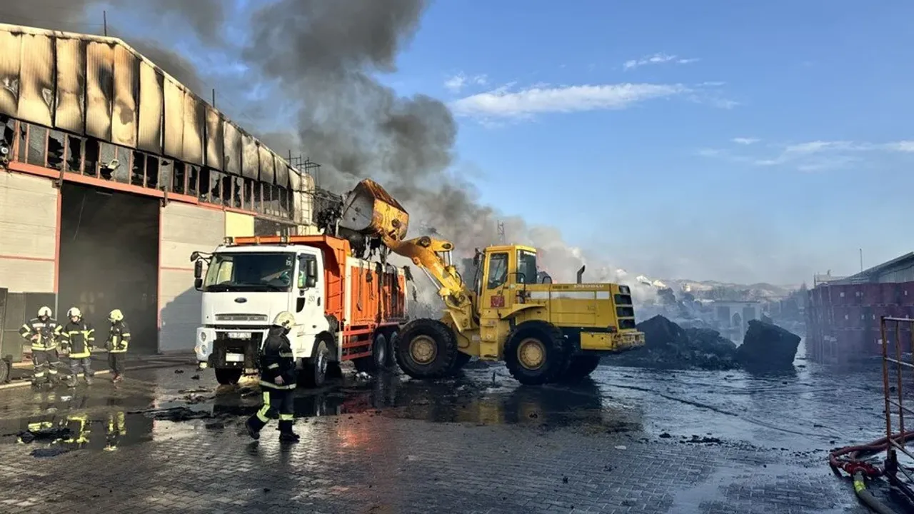
[[[298,391],[293,446],[275,422],[252,443],[241,423],[259,391],[190,366],[10,389],[0,512],[866,512],[825,457],[885,435],[881,370],[797,364],[600,367],[540,388],[503,367],[435,383],[347,375]],[[42,422],[70,432],[16,435]]]

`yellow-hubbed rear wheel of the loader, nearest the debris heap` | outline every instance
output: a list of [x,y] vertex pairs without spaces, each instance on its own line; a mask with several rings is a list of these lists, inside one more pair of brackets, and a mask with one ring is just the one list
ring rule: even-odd
[[568,369],[565,337],[545,321],[527,321],[515,327],[505,344],[505,365],[525,385],[555,382]]

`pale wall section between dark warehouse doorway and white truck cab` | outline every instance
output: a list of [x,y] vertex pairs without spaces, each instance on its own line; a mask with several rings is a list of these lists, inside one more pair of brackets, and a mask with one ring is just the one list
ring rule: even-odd
[[[162,209],[159,351],[194,348],[200,293],[194,289],[191,252],[212,252],[225,237],[226,213],[171,202]],[[251,222],[252,223],[252,222]]]

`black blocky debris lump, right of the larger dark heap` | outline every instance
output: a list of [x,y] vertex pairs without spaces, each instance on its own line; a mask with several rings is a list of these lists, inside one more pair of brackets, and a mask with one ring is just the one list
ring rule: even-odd
[[793,369],[800,336],[777,325],[749,320],[743,344],[737,349],[737,359],[743,368],[752,371]]

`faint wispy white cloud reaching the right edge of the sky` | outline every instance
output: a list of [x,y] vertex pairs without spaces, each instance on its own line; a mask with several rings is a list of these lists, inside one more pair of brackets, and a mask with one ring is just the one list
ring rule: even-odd
[[[734,138],[733,143],[750,145],[758,140]],[[800,171],[821,171],[848,166],[863,160],[866,153],[914,153],[914,141],[899,140],[889,143],[856,141],[808,141],[792,145],[775,146],[774,155],[735,154],[727,150],[702,149],[698,155],[724,158],[729,161],[754,166],[795,166]]]

